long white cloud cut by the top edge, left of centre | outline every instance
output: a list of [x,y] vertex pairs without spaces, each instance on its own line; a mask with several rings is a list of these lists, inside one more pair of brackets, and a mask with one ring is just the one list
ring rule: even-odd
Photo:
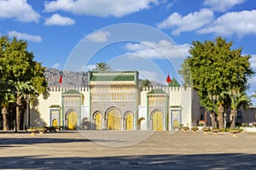
[[73,14],[122,17],[126,14],[150,8],[151,3],[158,3],[158,0],[55,0],[44,3],[44,11],[55,12],[62,10]]

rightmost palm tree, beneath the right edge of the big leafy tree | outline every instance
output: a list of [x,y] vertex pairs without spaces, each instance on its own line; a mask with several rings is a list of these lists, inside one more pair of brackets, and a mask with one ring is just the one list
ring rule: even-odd
[[230,128],[236,128],[236,116],[237,109],[243,105],[245,109],[250,104],[250,99],[247,94],[241,94],[239,91],[231,90],[230,91],[230,100],[231,100],[231,113],[230,113]]

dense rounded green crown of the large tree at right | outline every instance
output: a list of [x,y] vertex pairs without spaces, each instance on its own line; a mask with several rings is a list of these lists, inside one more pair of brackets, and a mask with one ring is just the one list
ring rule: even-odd
[[231,102],[231,89],[236,88],[241,94],[245,94],[249,87],[247,81],[253,75],[249,62],[251,55],[241,55],[241,48],[231,49],[232,45],[233,42],[226,42],[222,37],[217,37],[213,42],[192,42],[189,49],[191,56],[184,61],[183,65],[186,62],[189,65],[192,88],[199,95],[201,105],[206,108],[213,106],[213,101],[209,98],[211,94],[222,94],[222,102],[217,104],[226,106]]

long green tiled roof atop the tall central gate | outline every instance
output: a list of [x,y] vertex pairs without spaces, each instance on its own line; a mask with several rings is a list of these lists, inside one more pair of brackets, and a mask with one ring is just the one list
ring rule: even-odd
[[135,81],[135,71],[91,72],[90,81]]

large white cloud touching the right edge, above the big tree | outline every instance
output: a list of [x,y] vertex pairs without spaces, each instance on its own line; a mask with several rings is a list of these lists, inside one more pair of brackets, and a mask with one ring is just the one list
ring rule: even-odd
[[223,36],[236,35],[242,37],[245,35],[256,35],[256,10],[244,10],[241,12],[226,13],[210,26],[202,28],[198,33],[216,33]]

